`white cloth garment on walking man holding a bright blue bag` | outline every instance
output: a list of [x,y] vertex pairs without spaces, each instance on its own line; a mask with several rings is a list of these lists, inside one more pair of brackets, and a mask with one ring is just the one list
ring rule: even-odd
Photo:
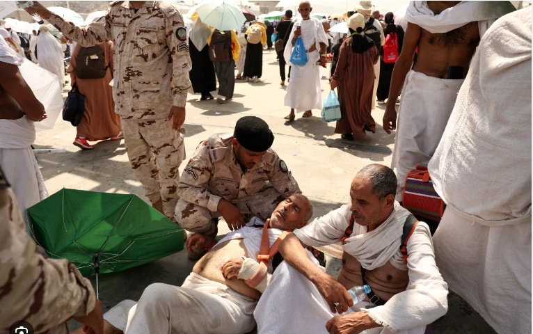
[[[292,65],[290,62],[292,54],[292,39],[296,26],[301,24],[303,46],[306,50],[312,45],[317,49],[308,52],[308,62],[305,65]],[[291,80],[285,90],[285,106],[296,109],[297,112],[308,111],[312,109],[322,109],[322,92],[320,89],[320,67],[316,65],[320,60],[320,44],[328,45],[328,36],[324,27],[318,19],[310,18],[296,22],[292,27],[289,35],[289,42],[283,51],[285,61],[292,65]]]

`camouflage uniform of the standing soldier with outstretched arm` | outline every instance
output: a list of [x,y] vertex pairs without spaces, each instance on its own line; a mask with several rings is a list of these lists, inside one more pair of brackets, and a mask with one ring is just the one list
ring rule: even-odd
[[185,106],[191,88],[182,15],[164,1],[146,1],[137,13],[129,1],[115,1],[87,29],[55,14],[47,21],[83,47],[113,41],[113,100],[129,162],[146,197],[152,204],[161,199],[164,214],[173,219],[185,152],[182,133],[165,120],[172,106]]

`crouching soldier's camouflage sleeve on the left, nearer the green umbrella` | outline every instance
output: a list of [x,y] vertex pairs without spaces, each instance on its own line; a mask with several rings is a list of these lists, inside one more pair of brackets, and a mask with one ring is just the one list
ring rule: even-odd
[[203,147],[205,141],[200,143],[195,154],[185,166],[180,183],[177,186],[177,196],[187,202],[207,207],[212,212],[218,210],[219,196],[211,193],[207,188],[207,182],[211,179],[212,164],[209,160],[209,150]]

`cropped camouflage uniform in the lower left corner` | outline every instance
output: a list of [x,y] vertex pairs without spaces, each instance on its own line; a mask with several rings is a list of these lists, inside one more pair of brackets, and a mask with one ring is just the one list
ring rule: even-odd
[[28,321],[35,333],[68,333],[65,321],[95,307],[93,287],[74,264],[36,252],[1,170],[0,221],[0,333],[17,320]]

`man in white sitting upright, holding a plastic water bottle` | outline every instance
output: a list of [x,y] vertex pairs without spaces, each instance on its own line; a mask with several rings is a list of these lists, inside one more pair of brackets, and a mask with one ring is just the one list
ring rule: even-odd
[[[445,315],[447,284],[435,264],[426,223],[410,230],[408,257],[400,251],[404,224],[415,220],[395,201],[396,186],[390,168],[366,166],[351,183],[351,205],[315,219],[281,242],[285,262],[255,309],[258,333],[287,333],[287,328],[291,333],[324,333],[325,326],[328,333],[423,334],[427,324]],[[335,280],[304,248],[339,241],[344,253]],[[372,292],[353,305],[347,289],[363,284]],[[286,316],[295,311],[301,311],[298,317]]]

